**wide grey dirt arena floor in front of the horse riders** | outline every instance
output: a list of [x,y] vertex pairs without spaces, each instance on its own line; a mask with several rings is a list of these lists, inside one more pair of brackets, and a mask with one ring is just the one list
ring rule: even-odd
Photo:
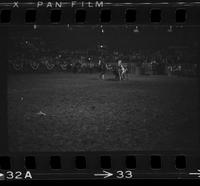
[[194,150],[197,78],[98,74],[8,77],[11,151]]

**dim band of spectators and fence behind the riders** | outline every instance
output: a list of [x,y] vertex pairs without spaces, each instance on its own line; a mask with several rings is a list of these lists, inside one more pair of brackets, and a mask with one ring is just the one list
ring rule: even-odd
[[[108,68],[117,64],[117,60],[127,66],[129,73],[138,74],[177,74],[199,75],[198,52],[187,48],[165,49],[108,49],[104,45],[96,49],[65,50],[48,48],[42,41],[21,41],[18,49],[9,56],[11,72],[86,72],[98,71],[103,60]],[[24,52],[25,51],[25,52]]]

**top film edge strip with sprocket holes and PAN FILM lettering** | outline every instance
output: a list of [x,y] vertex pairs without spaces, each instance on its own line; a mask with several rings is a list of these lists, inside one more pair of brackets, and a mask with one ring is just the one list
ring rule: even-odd
[[[38,1],[42,2],[42,1]],[[54,2],[51,2],[52,5],[49,7],[48,3],[42,2],[42,5],[37,7],[37,3],[23,3],[19,2],[19,5],[16,7],[12,3],[0,3],[0,11],[10,10],[10,21],[7,23],[0,23],[1,25],[16,25],[16,24],[42,24],[42,25],[59,25],[59,24],[75,24],[75,25],[93,25],[93,24],[154,24],[154,25],[199,25],[200,21],[198,19],[200,7],[200,2],[160,2],[160,3],[108,3],[104,1],[94,1],[94,2],[103,2],[100,6],[89,7],[87,4],[82,5],[84,1],[71,1],[71,2],[62,2],[62,6],[56,6]],[[56,1],[57,2],[57,1]],[[71,4],[76,2],[74,6]],[[92,3],[92,2],[91,2]],[[128,9],[137,9],[136,17],[137,19],[134,22],[127,23],[125,20],[126,10]],[[151,10],[158,9],[161,11],[161,21],[160,22],[151,22],[150,14]],[[185,21],[176,21],[176,11],[177,10],[186,11],[186,20]],[[12,11],[11,11],[12,10]],[[25,13],[27,10],[34,10],[36,12],[36,21],[33,23],[27,23],[25,21]],[[61,13],[60,21],[51,22],[50,16],[51,12],[59,10]],[[75,14],[77,10],[85,10],[87,12],[86,21],[83,23],[77,23],[75,20]],[[100,14],[102,10],[111,11],[111,20],[109,22],[101,22]],[[37,19],[37,18],[40,19]],[[89,17],[89,18],[88,18]]]

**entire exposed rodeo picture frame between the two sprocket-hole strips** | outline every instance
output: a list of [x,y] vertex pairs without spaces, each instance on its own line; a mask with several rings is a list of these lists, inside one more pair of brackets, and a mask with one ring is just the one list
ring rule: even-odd
[[10,151],[197,149],[199,31],[114,25],[13,29]]

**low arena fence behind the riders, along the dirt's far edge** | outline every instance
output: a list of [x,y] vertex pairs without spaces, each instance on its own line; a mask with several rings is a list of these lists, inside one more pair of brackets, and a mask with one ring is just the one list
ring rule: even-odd
[[[95,73],[98,72],[98,64],[83,63],[76,66],[71,63],[16,63],[9,61],[8,71],[10,73],[49,73],[49,72],[74,72],[74,73]],[[108,66],[115,66],[116,63],[109,63]],[[128,73],[135,75],[178,75],[178,76],[199,76],[200,67],[198,64],[174,64],[162,63],[124,63]]]

